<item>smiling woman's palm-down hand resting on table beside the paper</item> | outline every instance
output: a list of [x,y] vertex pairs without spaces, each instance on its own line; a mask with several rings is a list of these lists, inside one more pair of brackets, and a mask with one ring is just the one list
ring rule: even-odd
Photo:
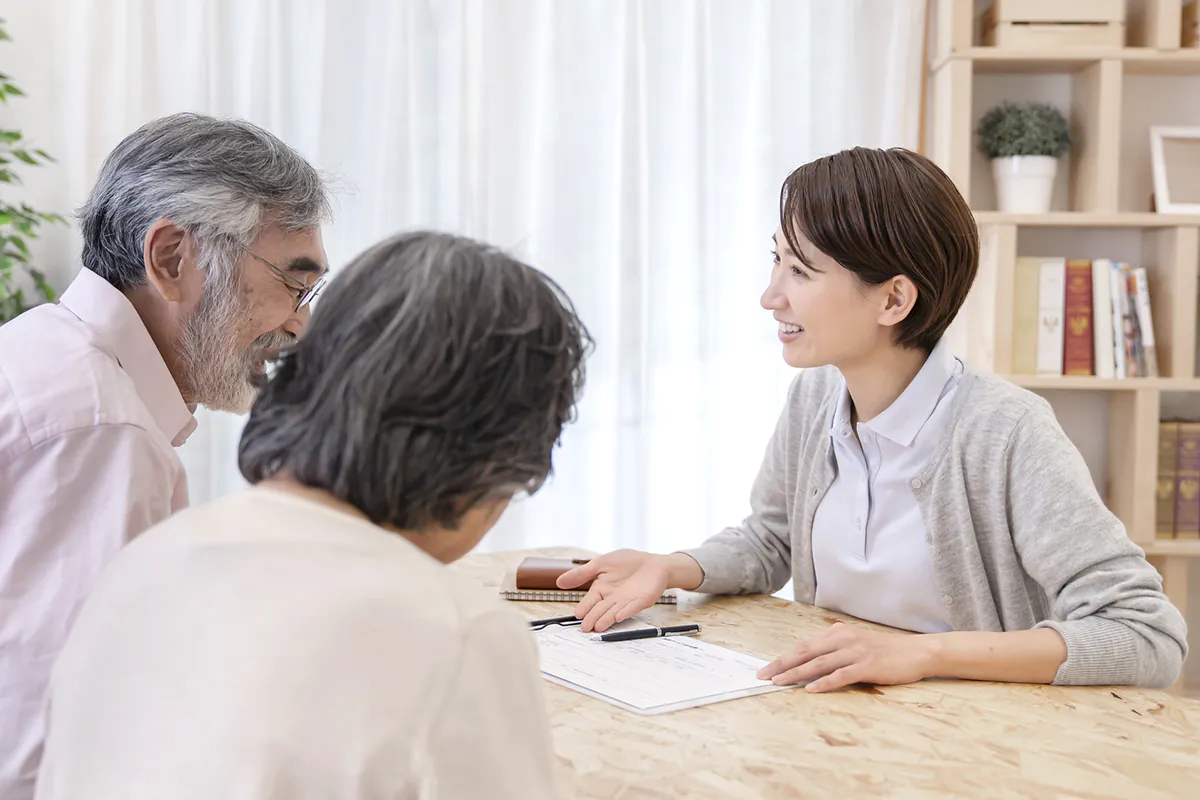
[[850,684],[912,684],[931,676],[932,645],[931,636],[881,633],[836,622],[760,669],[758,678],[780,686],[810,680],[810,692]]

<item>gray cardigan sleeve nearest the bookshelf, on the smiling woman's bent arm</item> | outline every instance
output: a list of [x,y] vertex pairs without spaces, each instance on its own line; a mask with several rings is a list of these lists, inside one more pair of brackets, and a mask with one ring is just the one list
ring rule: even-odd
[[1054,628],[1067,643],[1055,682],[1175,682],[1187,624],[1049,405],[1031,409],[1013,432],[1007,481],[1013,542],[1051,603],[1052,619],[1036,627]]

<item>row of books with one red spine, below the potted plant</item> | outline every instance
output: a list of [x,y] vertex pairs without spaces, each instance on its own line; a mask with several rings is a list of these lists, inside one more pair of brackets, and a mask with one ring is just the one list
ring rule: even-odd
[[1016,259],[1013,372],[1156,378],[1146,269],[1106,258]]

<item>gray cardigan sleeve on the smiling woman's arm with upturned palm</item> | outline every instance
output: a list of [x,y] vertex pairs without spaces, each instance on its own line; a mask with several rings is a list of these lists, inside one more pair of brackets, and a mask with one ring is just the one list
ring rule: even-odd
[[774,594],[791,579],[788,497],[796,487],[788,483],[787,464],[792,449],[790,419],[794,404],[800,402],[799,386],[797,375],[750,489],[750,515],[742,524],[710,536],[700,547],[682,551],[696,559],[704,573],[696,591]]

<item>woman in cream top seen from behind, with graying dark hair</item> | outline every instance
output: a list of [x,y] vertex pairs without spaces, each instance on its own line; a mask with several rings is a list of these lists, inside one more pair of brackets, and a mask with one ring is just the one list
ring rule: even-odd
[[253,488],[150,529],[84,606],[37,796],[553,796],[533,639],[444,565],[546,480],[589,345],[464,239],[342,270],[253,405]]

